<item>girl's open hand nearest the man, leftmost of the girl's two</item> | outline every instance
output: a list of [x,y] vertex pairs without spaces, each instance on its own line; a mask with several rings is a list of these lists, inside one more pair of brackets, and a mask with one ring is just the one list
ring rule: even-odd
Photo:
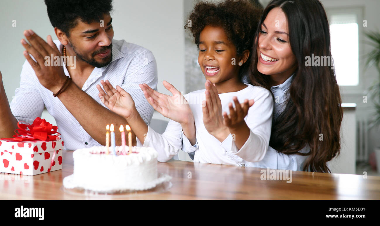
[[104,91],[100,85],[97,85],[99,97],[109,110],[123,116],[125,119],[130,117],[134,111],[137,111],[131,95],[124,89],[120,86],[116,86],[116,89],[113,88],[108,80],[106,82],[101,80],[100,83],[103,85]]

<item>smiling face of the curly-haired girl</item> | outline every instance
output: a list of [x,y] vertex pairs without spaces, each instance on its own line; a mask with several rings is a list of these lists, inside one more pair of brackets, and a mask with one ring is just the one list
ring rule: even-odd
[[[237,56],[236,47],[228,40],[223,28],[207,25],[199,35],[198,63],[212,83],[236,80],[239,75],[239,61],[244,63],[248,53]],[[236,59],[234,62],[232,58]],[[233,64],[234,63],[234,64]]]

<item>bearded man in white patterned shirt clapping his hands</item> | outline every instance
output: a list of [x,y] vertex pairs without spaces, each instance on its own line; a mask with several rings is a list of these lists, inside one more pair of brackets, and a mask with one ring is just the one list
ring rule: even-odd
[[[122,116],[105,108],[98,96],[97,85],[108,83],[107,80],[131,94],[140,115],[149,124],[154,110],[138,84],[157,89],[157,65],[149,50],[124,40],[112,40],[111,2],[45,0],[58,40],[53,42],[47,36],[46,43],[32,30],[24,31],[21,44],[27,60],[10,105],[0,73],[1,138],[14,134],[17,121],[31,124],[46,107],[57,122],[65,149],[105,145],[107,124],[113,123],[115,130],[128,124]],[[70,66],[55,62],[62,54],[71,61]],[[136,143],[134,134],[133,141]],[[116,136],[116,144],[121,144],[120,136]]]

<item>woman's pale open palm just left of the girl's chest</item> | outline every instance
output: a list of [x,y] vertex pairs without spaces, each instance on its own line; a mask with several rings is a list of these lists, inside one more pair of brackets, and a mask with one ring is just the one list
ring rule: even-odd
[[162,84],[173,96],[159,93],[150,88],[147,84],[140,84],[139,86],[144,92],[144,96],[149,104],[161,115],[179,122],[181,125],[187,123],[194,124],[193,113],[182,93],[166,81],[163,81]]

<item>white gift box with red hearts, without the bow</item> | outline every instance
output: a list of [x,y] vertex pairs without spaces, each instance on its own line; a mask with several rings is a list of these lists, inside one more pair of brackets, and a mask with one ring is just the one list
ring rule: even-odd
[[[62,140],[0,140],[0,172],[33,176],[62,170],[62,151]],[[51,163],[53,156],[54,160]]]

